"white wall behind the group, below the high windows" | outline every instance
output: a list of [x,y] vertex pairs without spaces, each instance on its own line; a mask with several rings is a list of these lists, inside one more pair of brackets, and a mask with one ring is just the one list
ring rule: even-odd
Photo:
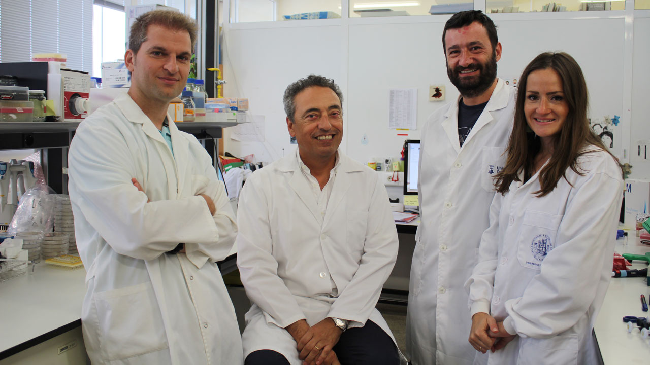
[[[594,12],[590,12],[594,13]],[[647,34],[650,13],[634,19],[634,82],[632,120],[625,120],[629,101],[623,99],[625,67],[625,18],[623,12],[563,14],[491,14],[503,45],[499,77],[518,78],[526,64],[543,51],[565,51],[582,66],[590,90],[590,117],[621,116],[616,127],[614,153],[643,136],[650,140],[647,82],[650,59]],[[645,16],[645,18],[643,18]],[[255,153],[270,161],[289,147],[281,103],[286,86],[309,73],[335,79],[344,94],[344,141],[341,149],[350,157],[395,157],[405,139],[417,139],[422,123],[435,108],[455,100],[456,88],[448,81],[441,32],[448,16],[343,18],[324,21],[260,23],[226,26],[227,96],[248,97],[251,114],[266,116],[265,144],[232,142],[226,150],[235,155]],[[631,32],[631,31],[630,31]],[[632,54],[632,53],[630,53]],[[445,102],[428,101],[430,84],[445,84]],[[390,88],[417,88],[418,128],[408,137],[388,129]],[[628,113],[629,115],[629,113]],[[630,126],[631,124],[631,126]],[[630,140],[623,140],[624,129]],[[363,134],[368,144],[361,144]],[[650,163],[632,158],[633,177],[650,176]]]

